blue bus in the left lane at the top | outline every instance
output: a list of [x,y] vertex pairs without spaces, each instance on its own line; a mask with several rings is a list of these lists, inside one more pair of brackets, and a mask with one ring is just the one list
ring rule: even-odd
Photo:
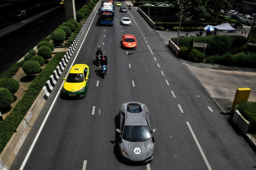
[[100,11],[101,25],[113,25],[114,24],[114,10],[113,4],[105,2]]

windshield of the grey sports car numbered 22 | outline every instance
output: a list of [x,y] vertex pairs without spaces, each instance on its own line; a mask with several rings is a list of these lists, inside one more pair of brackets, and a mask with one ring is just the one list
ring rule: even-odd
[[151,137],[147,126],[125,126],[122,138],[129,142],[144,142]]

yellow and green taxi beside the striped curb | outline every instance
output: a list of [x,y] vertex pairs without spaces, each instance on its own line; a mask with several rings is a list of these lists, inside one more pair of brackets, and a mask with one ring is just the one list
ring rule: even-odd
[[63,97],[84,97],[90,80],[89,66],[86,64],[76,64],[72,66],[67,74],[63,88]]

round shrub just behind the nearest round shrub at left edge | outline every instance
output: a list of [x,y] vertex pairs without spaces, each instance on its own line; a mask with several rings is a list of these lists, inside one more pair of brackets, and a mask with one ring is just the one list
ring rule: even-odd
[[11,94],[19,90],[19,82],[13,78],[1,78],[0,87],[6,88]]

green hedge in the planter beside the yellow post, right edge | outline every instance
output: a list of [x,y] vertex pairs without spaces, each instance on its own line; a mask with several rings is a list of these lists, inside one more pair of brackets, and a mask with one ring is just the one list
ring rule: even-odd
[[256,102],[241,102],[236,109],[251,123],[251,133],[256,133]]

